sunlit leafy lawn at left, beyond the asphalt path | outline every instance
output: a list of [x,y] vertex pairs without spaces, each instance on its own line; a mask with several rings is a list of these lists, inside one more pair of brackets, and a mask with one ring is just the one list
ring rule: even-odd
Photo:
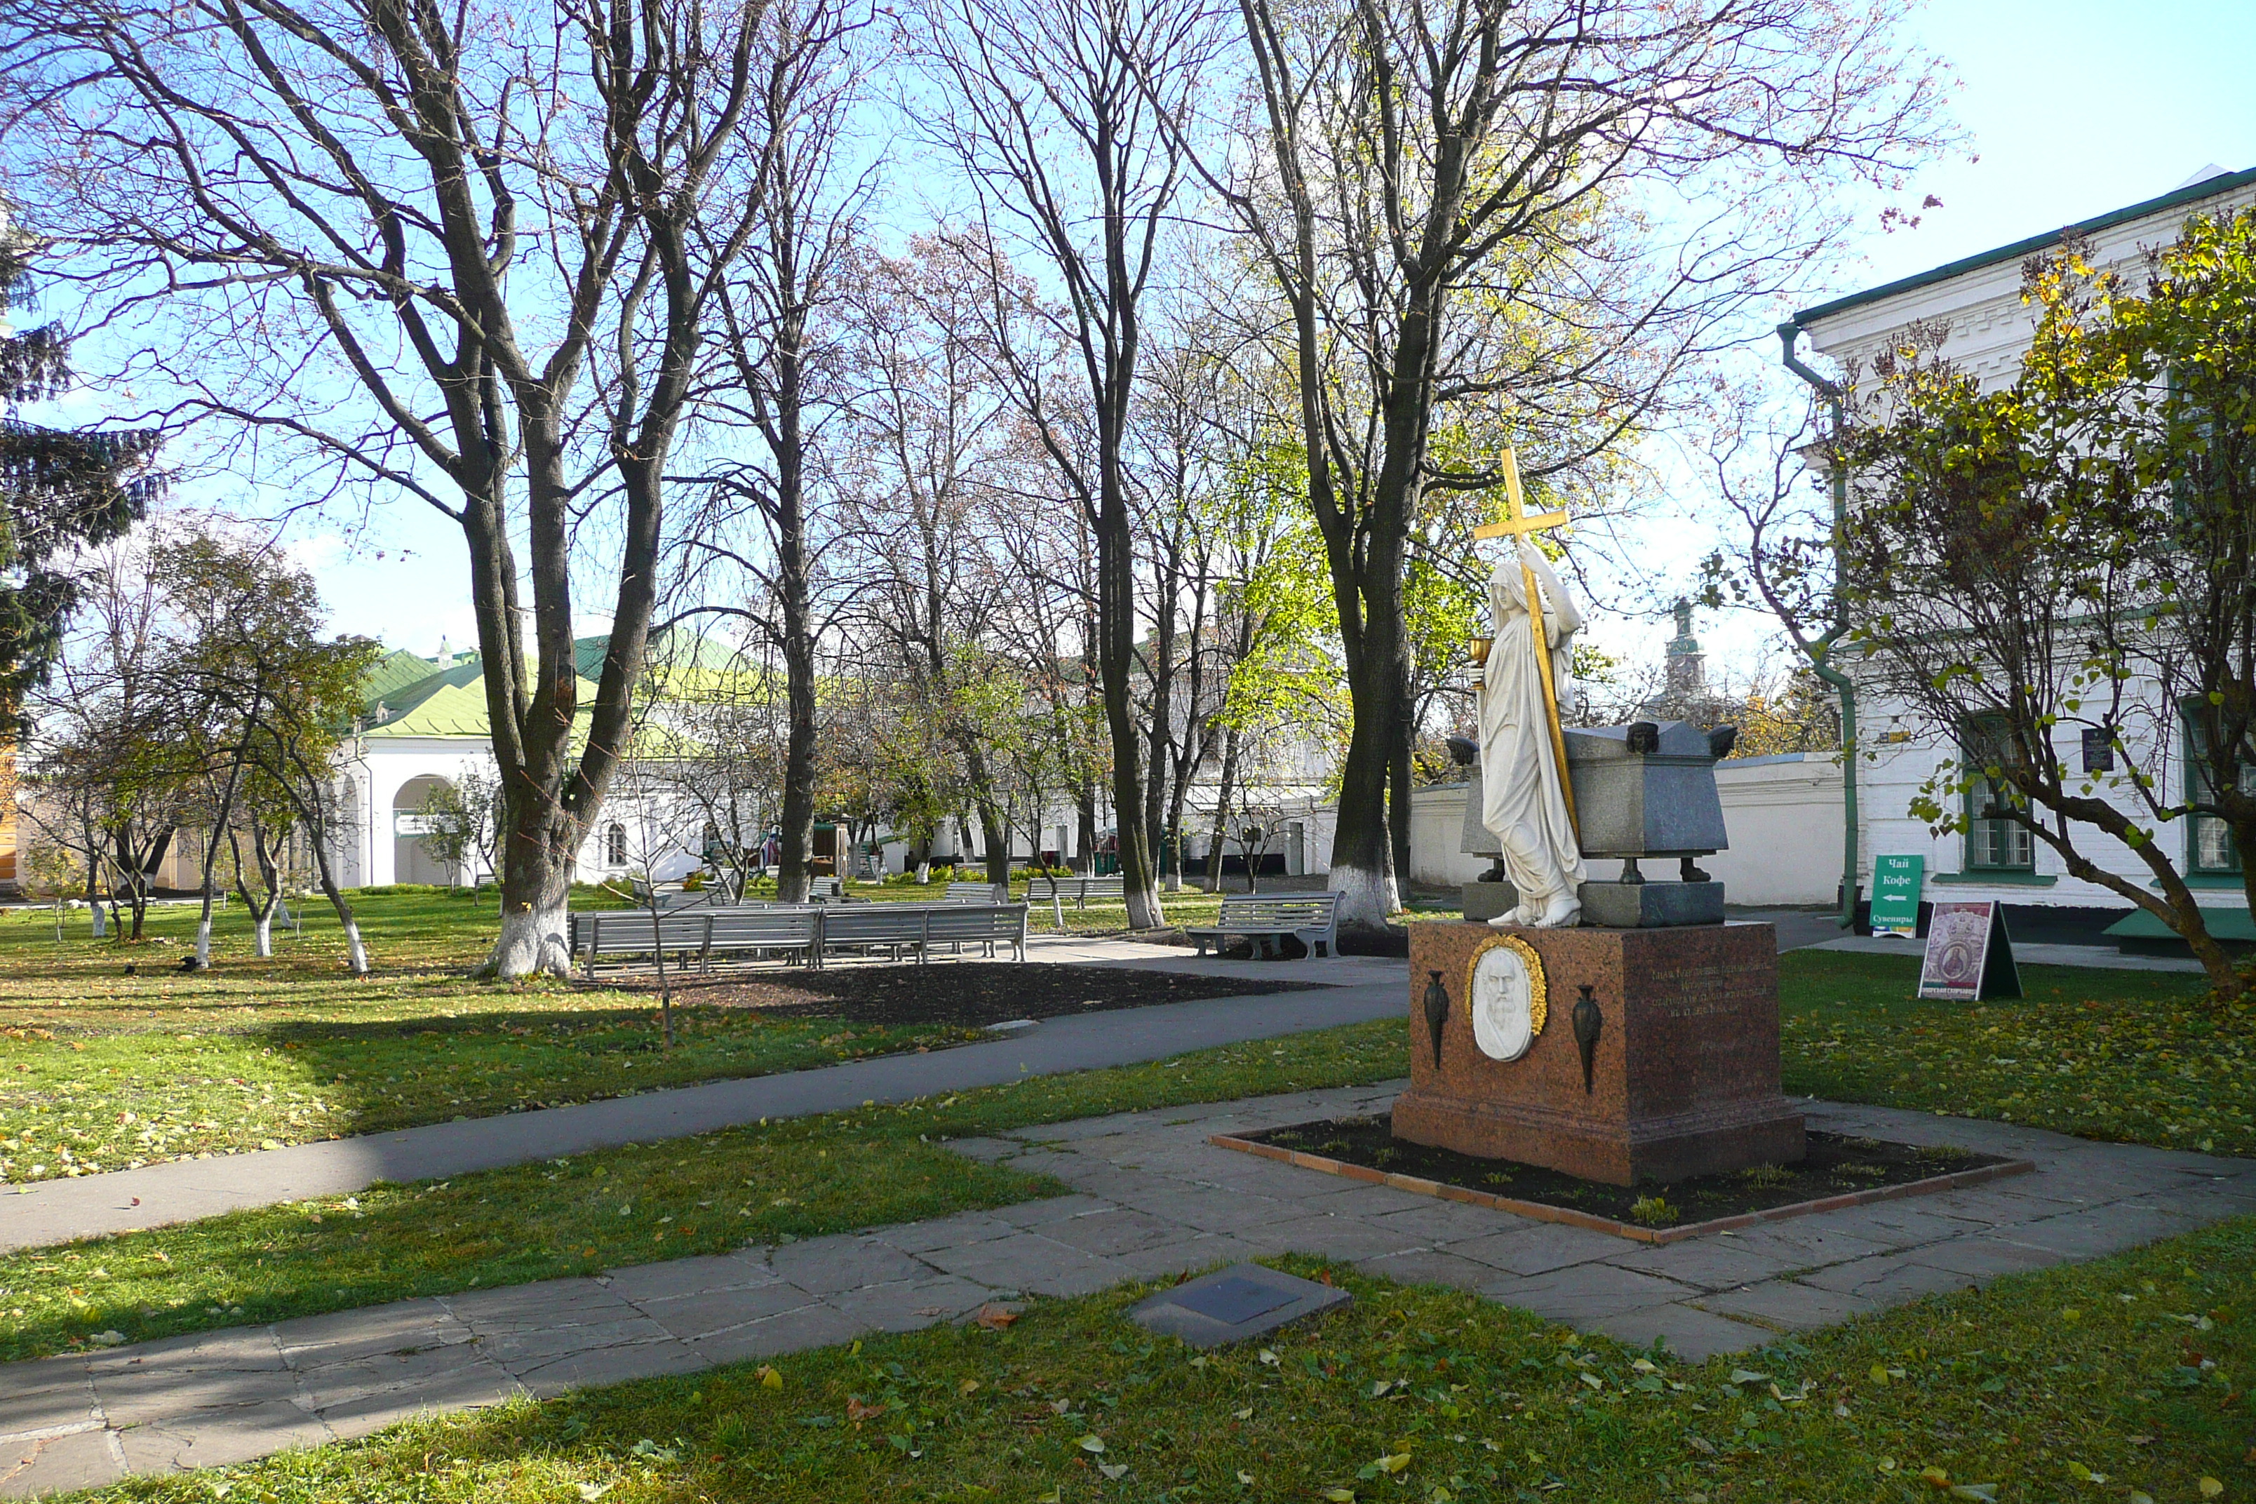
[[[1020,884],[1024,888],[1024,884]],[[916,884],[860,884],[882,902]],[[1184,918],[1218,897],[1184,893]],[[221,911],[210,972],[180,972],[196,909],[151,909],[140,945],[92,940],[86,913],[56,943],[47,911],[0,913],[0,1184],[124,1170],[160,1159],[309,1143],[456,1116],[557,1107],[650,1087],[799,1071],[977,1037],[684,1008],[659,1046],[656,985],[485,983],[492,893],[384,888],[354,911],[374,976],[343,972],[327,909],[275,954],[250,954],[241,909]],[[575,906],[618,906],[575,891]],[[1036,904],[1036,929],[1049,906]],[[1067,929],[1123,929],[1126,909],[1067,909]],[[126,965],[133,974],[126,974]]]

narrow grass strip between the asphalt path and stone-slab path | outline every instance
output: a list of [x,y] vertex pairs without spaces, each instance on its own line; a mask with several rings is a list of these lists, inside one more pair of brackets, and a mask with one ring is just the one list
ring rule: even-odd
[[9,1254],[0,1362],[1058,1195],[945,1139],[1405,1069],[1399,1024],[1356,1024]]

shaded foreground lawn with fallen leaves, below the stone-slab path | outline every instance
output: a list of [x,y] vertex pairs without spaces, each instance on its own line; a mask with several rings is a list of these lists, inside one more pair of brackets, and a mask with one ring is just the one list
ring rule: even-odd
[[1473,1294],[1354,1292],[1193,1355],[1148,1292],[420,1421],[99,1499],[1911,1504],[2247,1497],[2256,1218],[1678,1364]]

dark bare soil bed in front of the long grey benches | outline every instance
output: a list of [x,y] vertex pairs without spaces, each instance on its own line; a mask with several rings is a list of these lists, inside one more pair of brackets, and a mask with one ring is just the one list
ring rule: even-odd
[[[641,983],[647,990],[647,981]],[[1182,976],[1103,965],[945,961],[938,965],[853,965],[826,972],[763,972],[717,981],[688,979],[681,1003],[758,1008],[783,1019],[851,1024],[1004,1024],[1074,1012],[1187,1003],[1200,997],[1304,992],[1313,983]]]

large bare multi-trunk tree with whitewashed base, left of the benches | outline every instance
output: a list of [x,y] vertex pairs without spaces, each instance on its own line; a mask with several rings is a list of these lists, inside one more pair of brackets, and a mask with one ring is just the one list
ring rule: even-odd
[[[663,478],[754,232],[763,0],[7,0],[25,219],[158,424],[460,525],[505,778],[487,972],[564,972]],[[88,343],[81,340],[81,350]],[[580,704],[573,559],[611,631]],[[530,586],[530,602],[523,600]],[[523,620],[523,618],[530,618]]]

